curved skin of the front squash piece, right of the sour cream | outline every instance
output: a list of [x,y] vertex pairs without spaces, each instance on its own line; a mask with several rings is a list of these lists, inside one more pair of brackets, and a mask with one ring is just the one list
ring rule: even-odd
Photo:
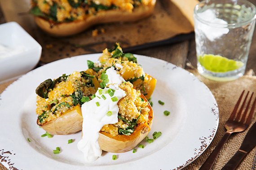
[[[141,98],[148,102],[143,94],[141,94]],[[111,153],[124,153],[135,148],[148,135],[152,126],[154,113],[149,102],[147,107],[150,109],[149,121],[138,125],[131,135],[111,136],[110,133],[99,132],[98,143],[100,148]]]

